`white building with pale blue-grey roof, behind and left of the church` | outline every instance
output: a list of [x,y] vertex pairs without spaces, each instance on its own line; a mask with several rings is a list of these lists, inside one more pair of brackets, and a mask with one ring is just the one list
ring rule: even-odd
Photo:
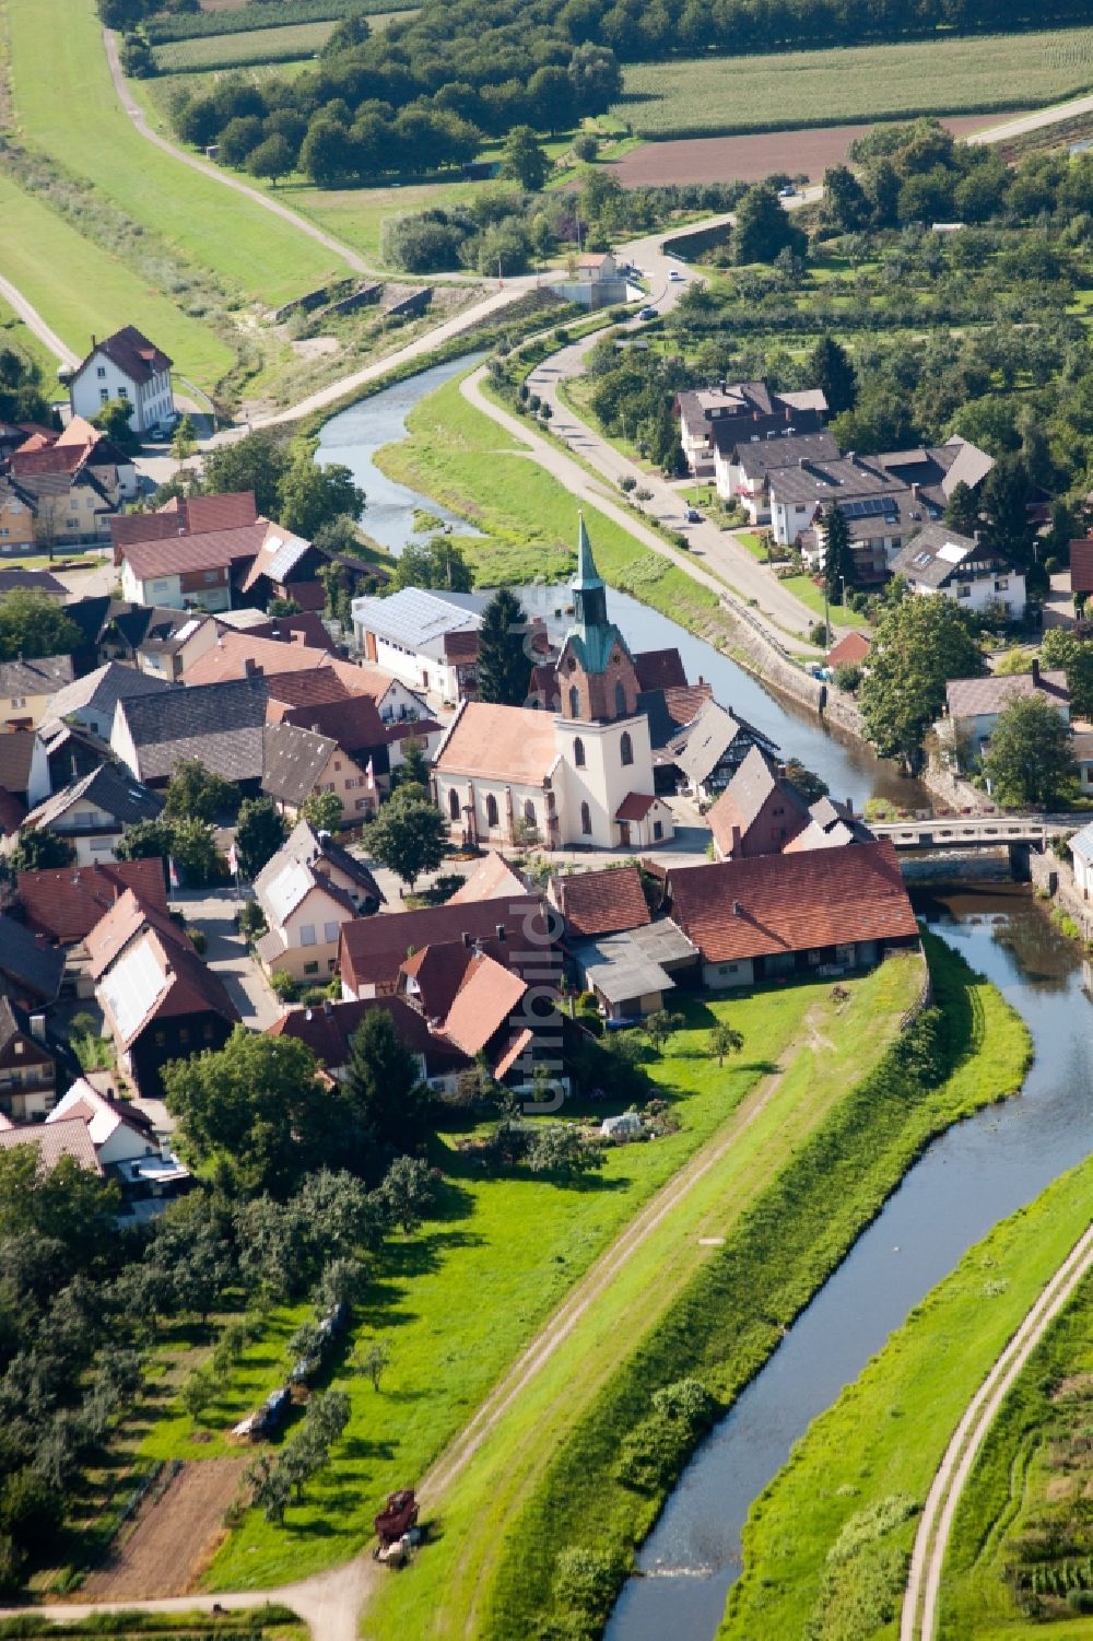
[[487,602],[476,592],[422,587],[353,599],[356,648],[410,689],[469,701],[478,693],[478,632]]

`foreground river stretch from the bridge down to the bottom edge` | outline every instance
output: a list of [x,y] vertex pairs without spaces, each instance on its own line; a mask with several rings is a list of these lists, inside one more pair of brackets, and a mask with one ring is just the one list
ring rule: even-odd
[[607,1641],[717,1633],[740,1529],[791,1446],[973,1242],[1090,1152],[1093,1016],[1077,945],[1016,884],[932,888],[916,901],[1024,1016],[1036,1047],[1024,1091],[942,1134],[801,1313],[684,1470]]

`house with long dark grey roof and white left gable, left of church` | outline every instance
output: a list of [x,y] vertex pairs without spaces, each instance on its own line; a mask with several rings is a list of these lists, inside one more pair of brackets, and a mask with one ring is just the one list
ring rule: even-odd
[[182,758],[258,789],[264,770],[266,679],[162,689],[118,701],[110,747],[148,786],[166,786]]

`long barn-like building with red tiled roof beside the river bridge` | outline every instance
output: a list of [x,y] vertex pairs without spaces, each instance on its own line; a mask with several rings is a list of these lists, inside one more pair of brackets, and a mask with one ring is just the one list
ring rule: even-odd
[[711,990],[844,973],[919,940],[888,840],[678,866],[668,896]]

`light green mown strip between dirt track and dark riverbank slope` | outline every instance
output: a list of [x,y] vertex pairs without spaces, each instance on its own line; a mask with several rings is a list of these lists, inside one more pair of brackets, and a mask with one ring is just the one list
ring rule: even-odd
[[[397,1631],[407,1638],[514,1638],[535,1633],[527,1611],[517,1615],[505,1607],[501,1616],[487,1620],[479,1602],[499,1577],[515,1587],[530,1577],[524,1557],[535,1559],[537,1552],[530,1546],[520,1549],[515,1539],[528,1523],[542,1529],[535,1503],[551,1457],[568,1447],[574,1431],[583,1431],[588,1419],[597,1416],[619,1372],[620,1354],[635,1346],[645,1351],[660,1318],[668,1311],[671,1319],[670,1308],[679,1301],[696,1272],[720,1259],[720,1252],[702,1247],[699,1237],[732,1237],[794,1147],[824,1122],[855,1075],[881,1057],[919,983],[919,960],[899,957],[853,981],[845,1011],[840,1011],[829,985],[794,986],[788,993],[801,996],[804,990],[811,1027],[804,1040],[809,1045],[798,1052],[761,1113],[742,1129],[716,1168],[661,1221],[637,1257],[581,1318],[543,1374],[494,1428],[441,1502],[438,1543],[417,1559],[410,1577],[400,1580],[397,1588],[384,1587],[374,1608],[369,1608],[364,1623],[368,1636],[382,1638]],[[729,1014],[737,1024],[739,1009],[740,1004],[732,1004]],[[743,1052],[748,1057],[755,1054],[747,1034]],[[776,1337],[773,1329],[771,1337]],[[588,1505],[579,1480],[574,1485]],[[568,1521],[568,1506],[560,1503],[558,1508]],[[599,1505],[589,1508],[586,1526],[591,1536],[597,1536],[597,1521]],[[551,1536],[553,1528],[546,1538]],[[512,1577],[504,1567],[499,1574],[499,1562],[507,1564],[509,1557],[514,1557]],[[542,1590],[535,1600],[538,1611],[550,1610]]]

